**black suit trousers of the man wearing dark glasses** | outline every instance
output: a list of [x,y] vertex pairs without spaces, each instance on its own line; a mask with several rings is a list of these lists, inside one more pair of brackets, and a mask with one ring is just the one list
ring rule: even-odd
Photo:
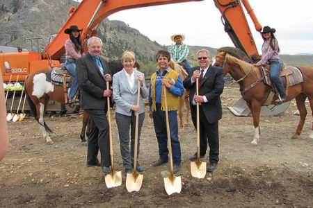
[[[196,106],[191,105],[191,119],[193,125],[197,128]],[[218,121],[209,123],[203,112],[202,105],[199,106],[200,120],[200,155],[207,153],[207,145],[209,144],[209,161],[218,162],[219,158],[219,141],[218,141]]]

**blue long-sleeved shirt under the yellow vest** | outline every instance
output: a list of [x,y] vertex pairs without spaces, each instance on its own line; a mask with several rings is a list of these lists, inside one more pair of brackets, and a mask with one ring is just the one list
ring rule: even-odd
[[[162,94],[162,82],[161,80],[166,76],[166,73],[170,72],[170,67],[163,71],[161,74],[160,69],[157,70],[157,78],[155,80],[155,103],[161,104],[161,94]],[[178,75],[178,78],[176,80],[175,86],[170,85],[170,89],[168,91],[171,94],[174,94],[175,96],[183,96],[185,93],[184,85],[182,83],[182,76]],[[151,98],[151,85],[149,87],[149,105],[150,105],[150,111],[152,107],[152,98]]]

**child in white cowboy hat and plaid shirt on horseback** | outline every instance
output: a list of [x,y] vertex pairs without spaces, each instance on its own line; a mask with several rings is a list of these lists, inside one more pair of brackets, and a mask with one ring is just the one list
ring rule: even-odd
[[184,67],[186,71],[189,71],[191,68],[190,64],[187,62],[187,55],[189,53],[188,46],[183,43],[185,40],[185,35],[183,34],[175,34],[170,36],[170,39],[172,42],[175,42],[175,44],[172,44],[170,46],[170,55],[172,57],[172,60],[175,60],[178,62],[178,64],[184,63]]

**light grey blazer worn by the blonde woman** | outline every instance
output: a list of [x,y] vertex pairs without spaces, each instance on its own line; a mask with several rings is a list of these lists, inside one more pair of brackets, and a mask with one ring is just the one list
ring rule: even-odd
[[143,103],[143,98],[147,98],[148,91],[145,87],[145,75],[140,71],[134,70],[134,87],[131,89],[129,86],[127,76],[125,74],[125,69],[115,73],[113,75],[113,98],[116,103],[115,112],[123,114],[126,116],[131,116],[131,106],[137,105],[137,93],[138,93],[138,79],[137,75],[143,76],[143,86],[141,87],[141,98],[140,106],[141,112],[145,112],[145,103]]

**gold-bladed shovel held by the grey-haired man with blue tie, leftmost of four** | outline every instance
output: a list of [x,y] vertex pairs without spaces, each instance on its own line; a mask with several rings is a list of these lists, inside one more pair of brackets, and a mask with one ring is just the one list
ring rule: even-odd
[[[106,81],[106,89],[109,89],[109,81]],[[110,98],[107,97],[107,105],[108,105],[108,120],[109,120],[109,137],[110,137],[110,157],[111,157],[111,173],[106,174],[104,177],[106,181],[106,187],[119,187],[122,184],[122,173],[120,171],[114,170],[114,162],[113,162],[113,144],[112,144],[112,131],[111,131],[111,114],[110,114]]]

